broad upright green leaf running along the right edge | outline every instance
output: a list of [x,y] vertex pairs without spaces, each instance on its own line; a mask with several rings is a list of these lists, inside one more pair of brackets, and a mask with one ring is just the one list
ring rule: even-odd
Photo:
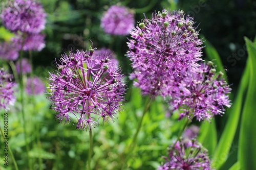
[[241,129],[239,136],[238,160],[241,169],[256,169],[256,46],[245,38],[248,50],[248,63],[250,67],[249,86],[242,112]]

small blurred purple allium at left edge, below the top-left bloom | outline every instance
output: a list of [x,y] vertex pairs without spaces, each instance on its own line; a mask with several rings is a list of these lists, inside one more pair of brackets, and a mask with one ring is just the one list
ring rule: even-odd
[[18,56],[18,48],[15,43],[3,42],[0,44],[0,58],[4,60],[16,60]]

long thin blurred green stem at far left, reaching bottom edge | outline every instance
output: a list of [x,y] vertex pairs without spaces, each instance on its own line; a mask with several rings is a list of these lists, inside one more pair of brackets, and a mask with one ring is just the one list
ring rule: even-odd
[[24,112],[24,82],[23,82],[23,74],[22,74],[22,57],[23,57],[23,46],[24,46],[24,39],[22,43],[22,50],[20,51],[19,55],[19,81],[20,81],[20,101],[22,103],[22,119],[23,119],[23,129],[24,129],[24,137],[25,137],[25,143],[26,143],[26,154],[28,158],[28,164],[29,169],[32,169],[32,165],[29,159],[29,145],[28,145],[28,135],[27,135],[27,129],[26,129],[26,119],[25,119],[25,112]]

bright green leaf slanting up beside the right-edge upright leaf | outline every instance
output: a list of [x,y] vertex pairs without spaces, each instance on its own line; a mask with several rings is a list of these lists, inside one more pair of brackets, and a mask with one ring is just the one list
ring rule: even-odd
[[217,169],[219,169],[221,165],[227,160],[234,135],[236,134],[237,131],[239,117],[242,109],[241,107],[243,103],[243,96],[248,86],[249,71],[249,64],[247,63],[243,77],[240,81],[236,100],[229,109],[229,116],[225,129],[217,145],[214,157],[212,158],[212,167],[215,167]]

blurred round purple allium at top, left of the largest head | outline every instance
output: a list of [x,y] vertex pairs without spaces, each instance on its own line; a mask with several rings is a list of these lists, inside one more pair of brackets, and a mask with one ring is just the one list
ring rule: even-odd
[[128,35],[134,26],[131,10],[117,5],[111,6],[101,18],[101,27],[108,34]]

